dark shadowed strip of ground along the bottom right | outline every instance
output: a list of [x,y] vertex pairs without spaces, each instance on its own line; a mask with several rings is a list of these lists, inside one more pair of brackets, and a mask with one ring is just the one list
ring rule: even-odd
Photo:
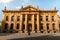
[[11,40],[60,40],[60,36],[39,36],[39,37],[18,38]]

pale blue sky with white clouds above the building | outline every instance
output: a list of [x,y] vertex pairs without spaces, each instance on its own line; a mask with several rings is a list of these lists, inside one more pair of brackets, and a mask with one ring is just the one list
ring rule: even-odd
[[60,16],[60,0],[0,0],[0,21],[2,21],[2,10],[7,7],[7,10],[18,10],[21,6],[32,5],[39,6],[40,10],[54,10],[56,7]]

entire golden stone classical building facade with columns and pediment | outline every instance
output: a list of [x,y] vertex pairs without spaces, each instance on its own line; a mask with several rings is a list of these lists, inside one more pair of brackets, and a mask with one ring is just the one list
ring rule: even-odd
[[31,5],[19,10],[3,10],[2,32],[59,32],[58,10],[40,10]]

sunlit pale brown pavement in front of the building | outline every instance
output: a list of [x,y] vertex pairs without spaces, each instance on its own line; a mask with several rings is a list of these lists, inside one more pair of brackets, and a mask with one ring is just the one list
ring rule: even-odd
[[48,36],[48,35],[60,37],[60,33],[55,33],[55,34],[32,33],[31,35],[28,35],[27,33],[0,33],[0,40],[39,37],[39,36]]

